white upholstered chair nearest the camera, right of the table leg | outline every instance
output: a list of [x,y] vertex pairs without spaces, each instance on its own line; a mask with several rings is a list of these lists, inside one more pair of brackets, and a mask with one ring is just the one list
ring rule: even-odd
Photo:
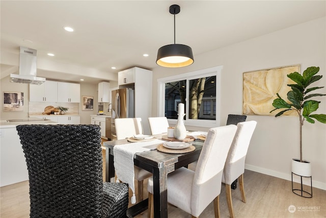
[[[198,217],[214,201],[215,217],[220,216],[219,196],[222,174],[237,127],[215,127],[208,131],[196,171],[185,167],[168,175],[168,202]],[[153,178],[148,180],[148,214],[153,217]]]

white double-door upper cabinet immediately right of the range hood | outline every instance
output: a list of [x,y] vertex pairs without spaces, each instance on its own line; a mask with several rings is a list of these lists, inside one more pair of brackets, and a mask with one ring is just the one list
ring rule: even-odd
[[30,102],[58,102],[58,82],[46,80],[41,85],[30,84]]

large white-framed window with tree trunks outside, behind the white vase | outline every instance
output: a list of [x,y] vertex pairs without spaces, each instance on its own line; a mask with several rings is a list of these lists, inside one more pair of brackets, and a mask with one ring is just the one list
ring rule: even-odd
[[183,103],[185,125],[219,126],[221,70],[219,66],[158,79],[158,115],[175,123]]

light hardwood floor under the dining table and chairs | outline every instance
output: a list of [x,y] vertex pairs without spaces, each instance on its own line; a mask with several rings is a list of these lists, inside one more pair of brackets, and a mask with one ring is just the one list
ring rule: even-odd
[[[147,198],[147,180],[144,183],[144,198]],[[246,192],[247,203],[241,201],[239,188],[232,189],[235,217],[326,217],[326,190],[313,188],[313,197],[310,199],[303,198],[292,193],[291,181],[246,170],[244,173],[244,191]],[[1,218],[29,217],[30,201],[28,181],[1,187],[0,192]],[[129,196],[131,196],[130,192]],[[291,205],[296,209],[294,212],[289,212],[288,208]],[[224,185],[222,185],[220,195],[220,210],[222,218],[230,217]],[[169,205],[168,211],[169,217],[191,217],[191,215],[172,205]],[[147,217],[147,211],[136,217]],[[200,217],[214,217],[212,203],[203,211]]]

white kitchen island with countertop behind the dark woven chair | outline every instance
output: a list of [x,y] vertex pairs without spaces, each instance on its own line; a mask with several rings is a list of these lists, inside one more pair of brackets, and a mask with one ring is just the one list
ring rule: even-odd
[[25,156],[20,144],[16,126],[23,124],[58,124],[51,120],[15,119],[0,122],[0,186],[10,185],[29,179]]

